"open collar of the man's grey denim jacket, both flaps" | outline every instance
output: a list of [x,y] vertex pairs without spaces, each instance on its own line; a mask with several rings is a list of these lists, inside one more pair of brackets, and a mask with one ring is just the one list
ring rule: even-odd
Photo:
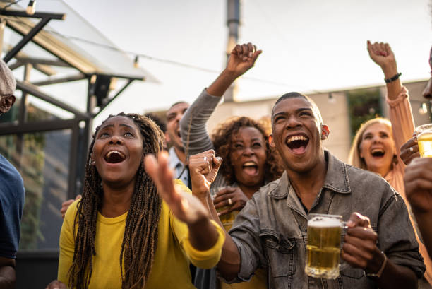
[[[329,151],[324,150],[324,155],[327,160],[327,175],[325,175],[323,188],[340,194],[350,194],[347,164],[338,160]],[[284,199],[288,196],[290,186],[287,171],[285,171],[280,177],[280,182],[270,191],[269,195],[273,199]]]

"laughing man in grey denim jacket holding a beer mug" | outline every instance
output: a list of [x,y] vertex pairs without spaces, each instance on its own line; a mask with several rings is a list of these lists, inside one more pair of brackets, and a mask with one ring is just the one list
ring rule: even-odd
[[[305,95],[277,100],[272,131],[270,143],[286,171],[237,216],[217,265],[220,276],[248,281],[264,266],[269,288],[417,288],[425,266],[400,195],[378,175],[323,149],[329,129]],[[342,259],[350,266],[335,280],[304,272],[308,213],[349,220]]]

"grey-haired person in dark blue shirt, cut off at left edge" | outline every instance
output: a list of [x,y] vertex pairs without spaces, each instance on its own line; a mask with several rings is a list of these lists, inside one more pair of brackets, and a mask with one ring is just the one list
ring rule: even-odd
[[[16,80],[0,59],[0,114],[15,102]],[[20,240],[24,184],[20,173],[0,155],[0,288],[15,288],[15,256]]]

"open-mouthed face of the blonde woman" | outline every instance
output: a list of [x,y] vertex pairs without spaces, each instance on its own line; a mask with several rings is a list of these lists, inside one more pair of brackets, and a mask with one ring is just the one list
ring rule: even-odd
[[368,126],[361,136],[359,155],[364,159],[367,170],[385,177],[392,168],[395,155],[391,128],[380,122]]

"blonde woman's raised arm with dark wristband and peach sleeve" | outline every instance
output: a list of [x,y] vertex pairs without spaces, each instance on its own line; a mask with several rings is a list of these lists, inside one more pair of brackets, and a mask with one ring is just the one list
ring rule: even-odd
[[[384,73],[387,88],[387,102],[389,105],[390,122],[392,123],[393,138],[397,155],[401,146],[412,138],[414,132],[414,119],[411,105],[408,101],[408,92],[402,87],[397,71],[395,54],[388,43],[368,41],[369,57],[380,66]],[[389,82],[387,82],[390,80]]]

